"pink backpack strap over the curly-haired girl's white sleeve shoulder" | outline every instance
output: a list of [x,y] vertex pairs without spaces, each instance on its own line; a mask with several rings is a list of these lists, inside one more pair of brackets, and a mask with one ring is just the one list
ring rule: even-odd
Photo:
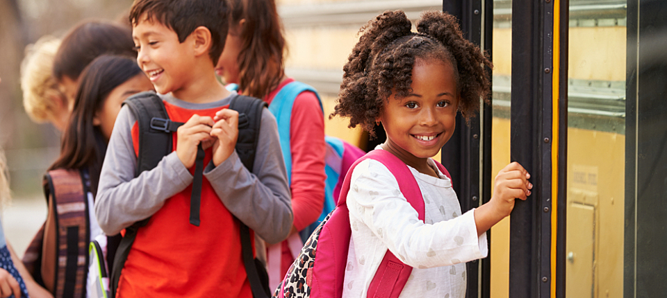
[[[401,193],[417,211],[419,220],[424,221],[424,198],[412,172],[398,157],[385,150],[373,150],[367,155],[380,161],[396,177]],[[396,298],[401,295],[405,283],[410,277],[412,267],[404,264],[387,250],[375,276],[368,287],[370,298]]]

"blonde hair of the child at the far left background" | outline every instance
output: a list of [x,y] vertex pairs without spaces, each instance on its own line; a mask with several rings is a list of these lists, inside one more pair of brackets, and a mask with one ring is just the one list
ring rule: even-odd
[[38,123],[46,122],[56,108],[53,96],[67,100],[53,77],[53,60],[59,46],[60,39],[44,35],[35,44],[26,46],[26,57],[21,63],[23,106]]

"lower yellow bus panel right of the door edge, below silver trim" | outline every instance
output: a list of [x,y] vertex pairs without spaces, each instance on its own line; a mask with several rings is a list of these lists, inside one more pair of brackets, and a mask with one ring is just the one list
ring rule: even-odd
[[[623,235],[625,218],[625,135],[570,128],[568,130],[568,253],[570,237],[581,237],[582,218],[570,214],[571,204],[595,207],[594,298],[623,297]],[[582,224],[583,225],[583,224]],[[570,227],[574,227],[570,229]],[[592,245],[591,241],[581,245]],[[568,263],[569,264],[569,263]],[[566,288],[580,276],[566,267]],[[569,296],[568,296],[569,297]],[[587,296],[588,297],[588,296]]]

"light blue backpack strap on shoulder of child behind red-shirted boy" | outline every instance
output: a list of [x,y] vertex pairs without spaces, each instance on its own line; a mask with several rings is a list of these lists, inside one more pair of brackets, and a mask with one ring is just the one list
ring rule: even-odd
[[[290,144],[292,107],[294,106],[294,100],[303,91],[313,92],[315,96],[318,97],[320,109],[322,109],[322,100],[318,95],[318,91],[315,91],[315,88],[311,87],[310,85],[297,81],[290,82],[283,86],[280,91],[278,91],[278,94],[274,96],[271,104],[269,105],[269,111],[271,114],[273,114],[273,116],[276,117],[276,122],[278,124],[280,148],[283,152],[283,159],[285,159],[287,182],[290,185],[292,184],[292,146]],[[324,109],[322,109],[322,113],[324,113]]]

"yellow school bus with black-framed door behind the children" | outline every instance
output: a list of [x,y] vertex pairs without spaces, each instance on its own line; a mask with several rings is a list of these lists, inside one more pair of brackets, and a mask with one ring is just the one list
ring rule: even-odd
[[[510,161],[536,188],[468,264],[467,297],[667,297],[667,1],[279,1],[287,73],[325,115],[359,28],[395,9],[456,15],[493,60],[491,105],[436,157],[463,211]],[[346,119],[326,132],[369,143]]]

